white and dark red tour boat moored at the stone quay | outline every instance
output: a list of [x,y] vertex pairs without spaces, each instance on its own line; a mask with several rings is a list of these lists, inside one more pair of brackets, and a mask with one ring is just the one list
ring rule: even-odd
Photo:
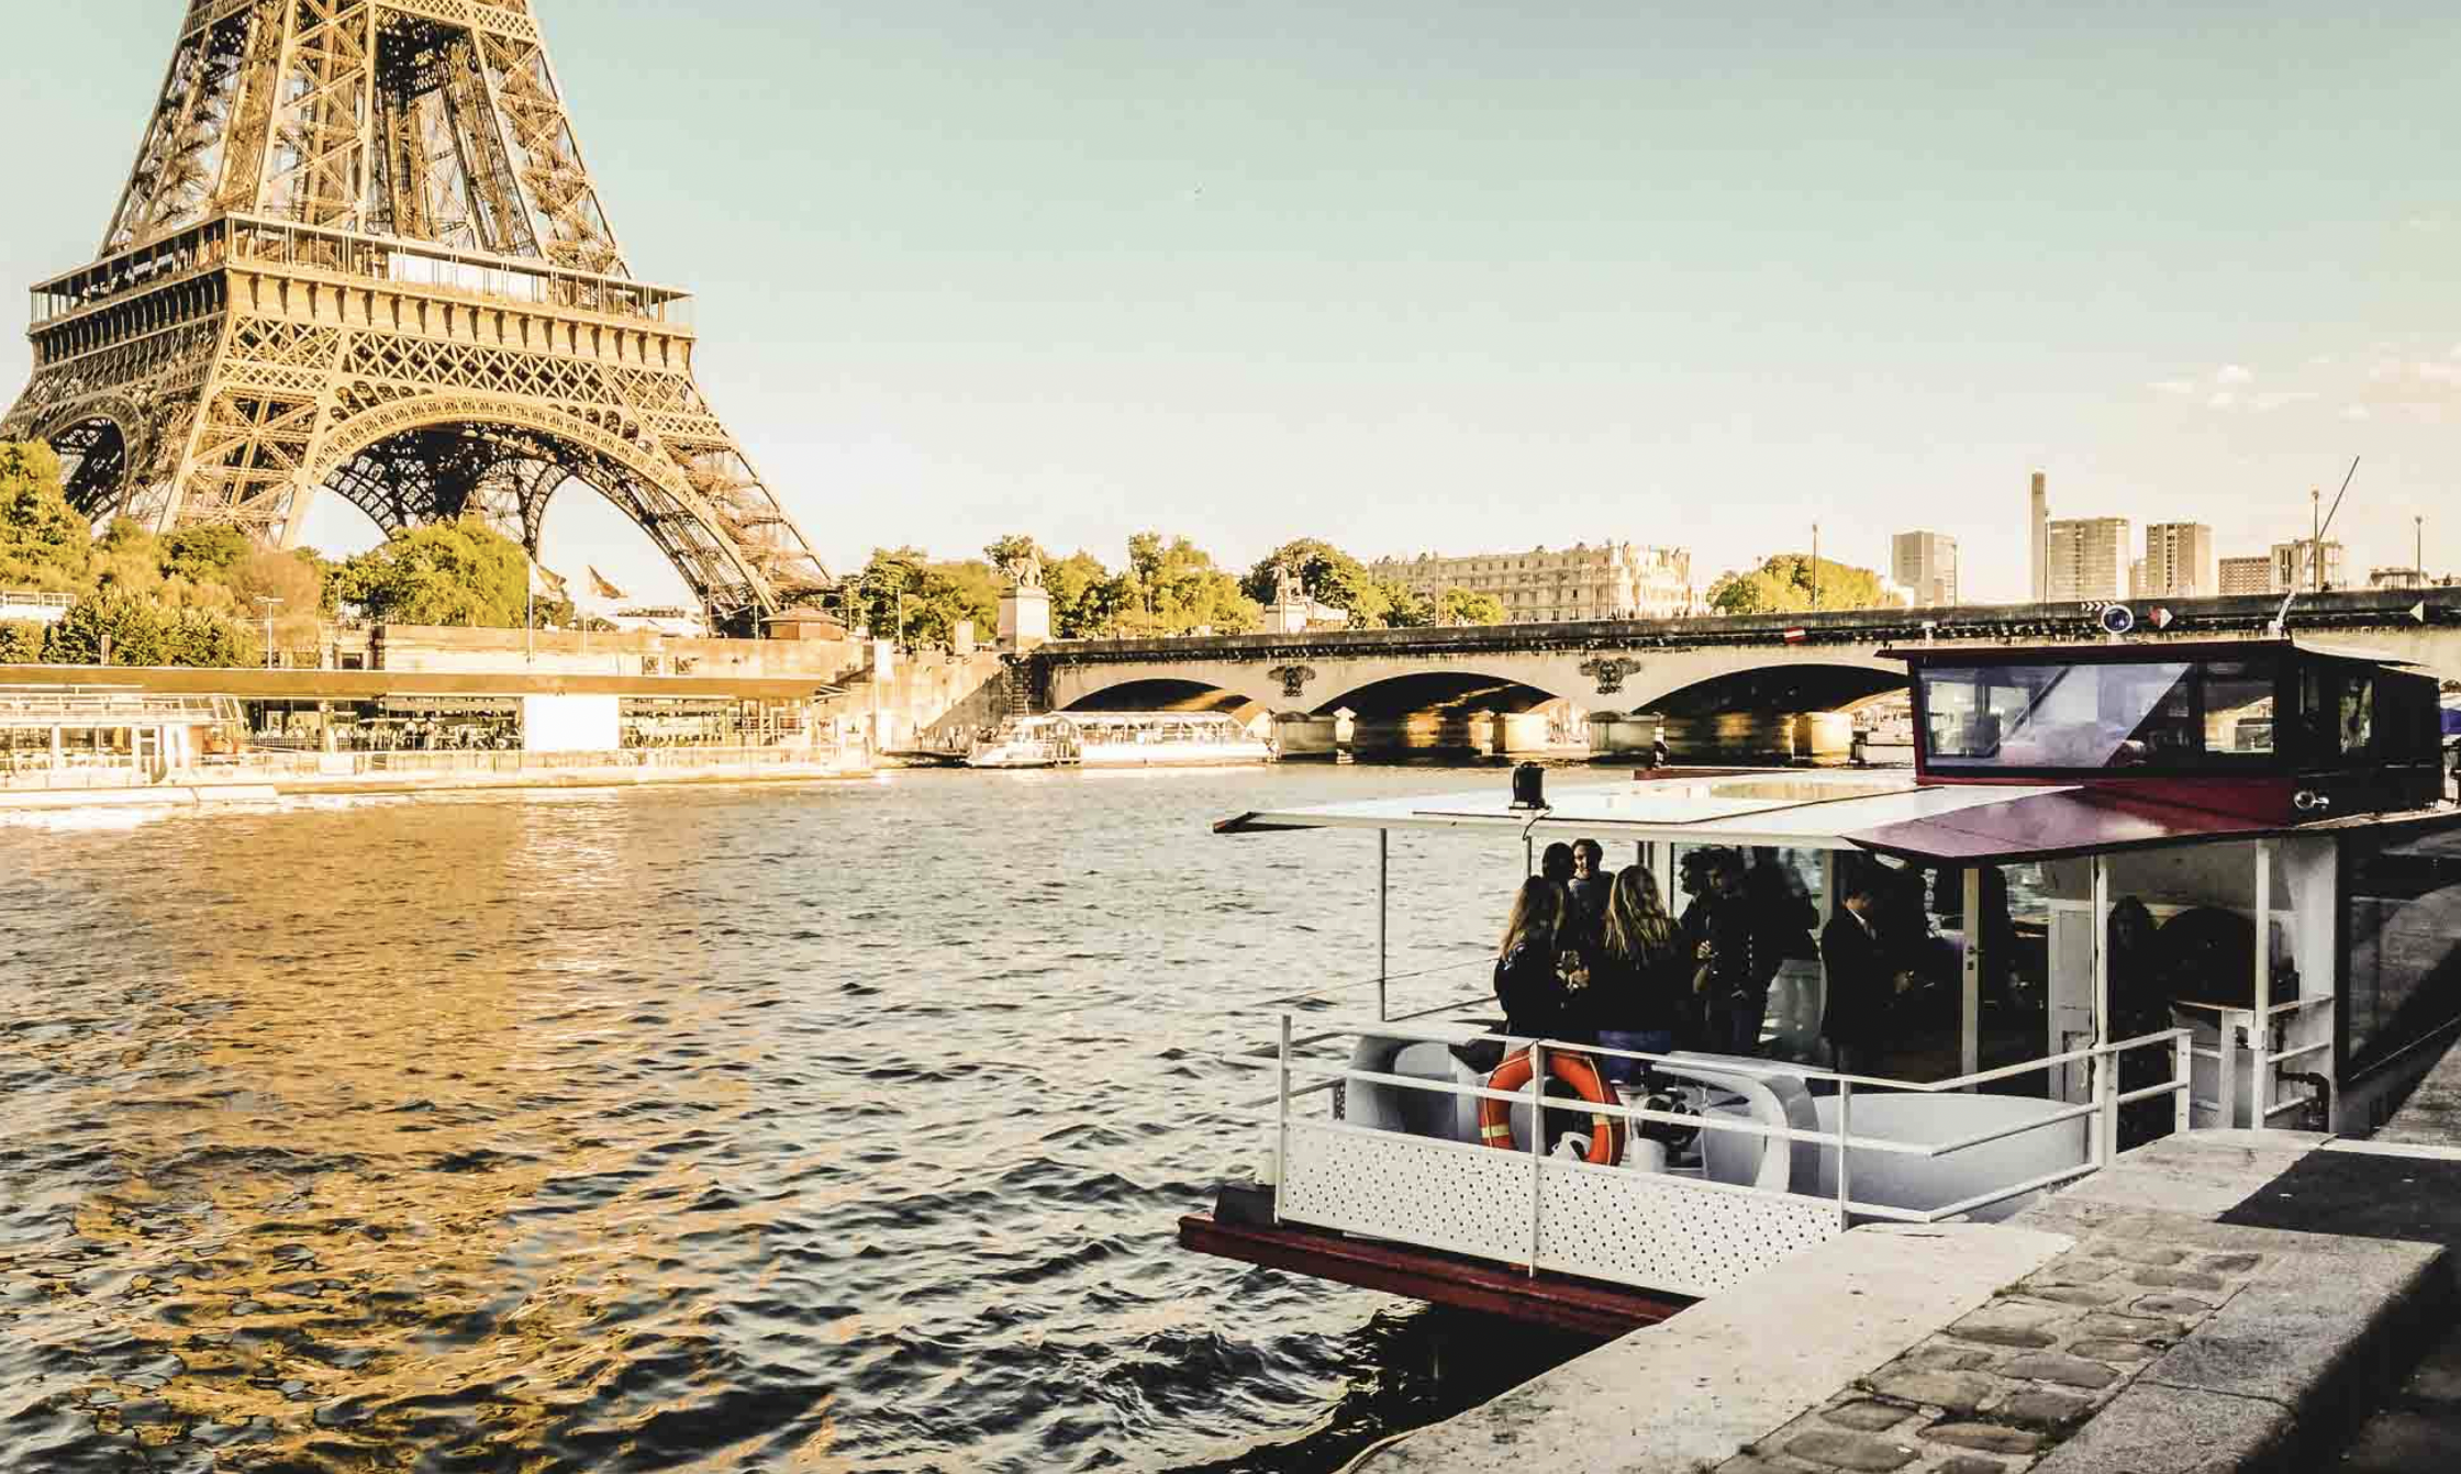
[[[1912,677],[1910,773],[1649,770],[1548,792],[1523,770],[1514,792],[1216,829],[1376,832],[1381,896],[1395,829],[1486,839],[1499,925],[1553,839],[1597,839],[1661,886],[1688,849],[1757,851],[1816,876],[1824,920],[1841,861],[1907,886],[1954,876],[1934,893],[1961,891],[1964,925],[1927,942],[1954,984],[1939,1068],[1821,1068],[1816,965],[1762,1024],[1765,1056],[1504,1038],[1491,957],[1464,965],[1469,997],[1393,997],[1381,898],[1373,1014],[1326,1011],[1326,994],[1280,1014],[1248,1058],[1272,1080],[1248,1102],[1255,1181],[1184,1218],[1181,1243],[1619,1331],[1856,1223],[2013,1213],[2099,1171],[2121,1122],[2365,1129],[2461,1029],[2461,807],[2431,677],[2284,637],[1893,655]],[[1986,979],[2013,960],[1986,910],[2006,906],[2006,866],[2048,920],[2038,984],[1988,987],[1986,1031]],[[1646,1066],[1646,1093],[1602,1083],[1617,1056]],[[1541,1120],[1575,1127],[1553,1142],[1533,1129],[1548,1080],[1578,1098],[1546,1098]]]

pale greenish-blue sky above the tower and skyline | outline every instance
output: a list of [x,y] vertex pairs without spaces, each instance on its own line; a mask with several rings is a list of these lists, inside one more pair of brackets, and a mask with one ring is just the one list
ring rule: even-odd
[[[0,283],[185,0],[20,5]],[[534,0],[637,276],[839,571],[1009,532],[1696,568],[2055,517],[2461,571],[2451,5]],[[30,140],[39,140],[32,145]],[[22,340],[0,379],[25,381]],[[5,389],[12,394],[15,389]],[[310,541],[374,529],[325,497]],[[549,566],[679,591],[583,490]]]

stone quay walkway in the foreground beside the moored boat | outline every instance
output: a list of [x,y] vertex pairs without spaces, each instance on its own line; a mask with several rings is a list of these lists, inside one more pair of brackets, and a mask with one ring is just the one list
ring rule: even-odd
[[2461,1048],[2372,1142],[2195,1132],[1858,1228],[1351,1469],[2461,1469],[2456,1270]]

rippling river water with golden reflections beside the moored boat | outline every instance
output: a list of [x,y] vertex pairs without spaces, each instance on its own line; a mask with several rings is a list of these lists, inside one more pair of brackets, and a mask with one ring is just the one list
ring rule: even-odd
[[[1575,1346],[1174,1245],[1376,967],[1373,837],[1208,824],[1484,783],[0,824],[0,1469],[1336,1469]],[[1393,856],[1482,989],[1518,844]]]

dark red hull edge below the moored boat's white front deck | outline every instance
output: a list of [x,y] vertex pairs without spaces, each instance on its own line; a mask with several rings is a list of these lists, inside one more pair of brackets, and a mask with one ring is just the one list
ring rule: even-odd
[[1681,1294],[1622,1289],[1597,1280],[1565,1275],[1533,1280],[1462,1255],[1344,1238],[1317,1228],[1216,1223],[1211,1213],[1181,1218],[1179,1245],[1243,1265],[1292,1270],[1336,1285],[1405,1294],[1585,1336],[1622,1336],[1693,1304]]

